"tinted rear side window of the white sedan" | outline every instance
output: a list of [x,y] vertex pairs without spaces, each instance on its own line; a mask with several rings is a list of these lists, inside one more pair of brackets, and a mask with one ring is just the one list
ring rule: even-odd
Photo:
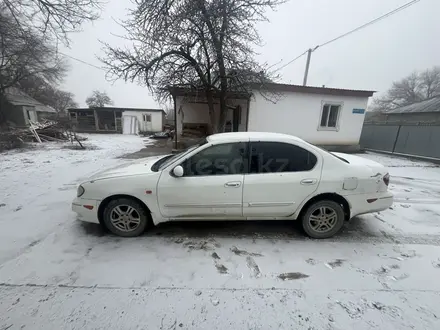
[[289,143],[251,143],[250,173],[310,171],[318,159],[311,152]]

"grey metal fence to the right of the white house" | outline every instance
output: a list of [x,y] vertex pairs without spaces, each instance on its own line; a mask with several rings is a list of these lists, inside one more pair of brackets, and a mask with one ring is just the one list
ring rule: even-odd
[[365,123],[360,144],[365,149],[440,158],[440,126]]

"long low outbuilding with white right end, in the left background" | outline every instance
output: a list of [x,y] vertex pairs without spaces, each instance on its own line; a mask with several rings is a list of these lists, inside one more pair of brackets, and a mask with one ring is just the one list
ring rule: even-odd
[[82,133],[154,133],[165,125],[162,109],[96,107],[68,111],[72,126]]

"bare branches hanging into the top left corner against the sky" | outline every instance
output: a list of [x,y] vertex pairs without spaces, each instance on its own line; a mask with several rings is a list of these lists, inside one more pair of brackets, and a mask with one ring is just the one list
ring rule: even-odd
[[1,0],[2,12],[13,17],[18,27],[46,37],[68,41],[68,33],[99,17],[100,0]]

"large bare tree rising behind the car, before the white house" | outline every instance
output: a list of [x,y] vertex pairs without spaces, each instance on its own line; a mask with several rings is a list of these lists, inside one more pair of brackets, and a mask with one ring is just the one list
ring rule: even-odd
[[136,8],[122,22],[133,47],[104,44],[101,61],[109,74],[145,84],[159,101],[169,96],[170,85],[204,93],[211,129],[222,131],[231,92],[249,92],[250,77],[267,81],[255,60],[254,48],[261,44],[255,25],[284,0],[133,1]]

